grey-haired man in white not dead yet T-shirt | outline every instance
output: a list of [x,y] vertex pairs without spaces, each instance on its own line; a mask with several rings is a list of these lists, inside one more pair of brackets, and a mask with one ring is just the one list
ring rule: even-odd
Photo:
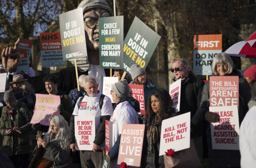
[[[74,112],[70,119],[70,148],[73,152],[78,150],[75,141],[74,116],[95,116],[96,135],[92,151],[80,150],[80,159],[82,168],[101,168],[103,155],[100,148],[105,146],[105,120],[109,120],[112,115],[112,103],[108,96],[105,96],[98,90],[99,84],[95,76],[86,76],[83,84],[86,95],[77,100]],[[84,108],[84,106],[88,108]]]

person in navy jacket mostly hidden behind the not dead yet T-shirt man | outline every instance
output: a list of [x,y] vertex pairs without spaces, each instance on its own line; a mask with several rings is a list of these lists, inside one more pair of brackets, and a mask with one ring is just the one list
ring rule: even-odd
[[86,77],[86,75],[80,75],[78,78],[78,83],[79,83],[79,90],[77,88],[70,90],[68,96],[71,98],[72,100],[72,105],[73,108],[75,108],[76,106],[76,101],[78,100],[78,98],[84,96],[86,94],[86,92],[84,91],[84,78]]

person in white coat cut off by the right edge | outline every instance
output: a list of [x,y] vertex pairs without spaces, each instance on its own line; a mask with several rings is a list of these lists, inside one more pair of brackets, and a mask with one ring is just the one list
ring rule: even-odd
[[239,148],[241,153],[241,168],[255,168],[256,158],[256,83],[252,86],[252,99],[248,103],[249,111],[246,113],[240,126]]

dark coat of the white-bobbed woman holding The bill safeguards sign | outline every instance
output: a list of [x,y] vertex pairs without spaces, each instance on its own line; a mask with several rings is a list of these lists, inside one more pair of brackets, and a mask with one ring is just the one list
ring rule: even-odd
[[[239,125],[241,124],[242,120],[246,112],[248,111],[248,102],[251,98],[251,89],[250,85],[246,81],[246,79],[242,78],[240,72],[233,68],[231,74],[227,76],[239,76]],[[202,92],[202,100],[201,100],[201,107],[199,110],[199,114],[203,120],[204,114],[206,111],[209,111],[210,106],[210,82],[207,82],[204,85],[203,92]],[[212,150],[212,138],[211,138],[211,127],[210,123],[208,122],[206,128],[206,136],[207,136],[207,144],[208,144],[208,156],[209,162],[211,166],[216,167],[240,167],[240,152],[239,150]]]

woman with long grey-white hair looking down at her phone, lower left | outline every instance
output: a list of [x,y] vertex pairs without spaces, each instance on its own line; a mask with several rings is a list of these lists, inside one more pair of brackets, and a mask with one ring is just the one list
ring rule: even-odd
[[37,146],[29,168],[62,168],[71,162],[68,122],[62,115],[50,117],[50,127],[44,138],[36,137]]

